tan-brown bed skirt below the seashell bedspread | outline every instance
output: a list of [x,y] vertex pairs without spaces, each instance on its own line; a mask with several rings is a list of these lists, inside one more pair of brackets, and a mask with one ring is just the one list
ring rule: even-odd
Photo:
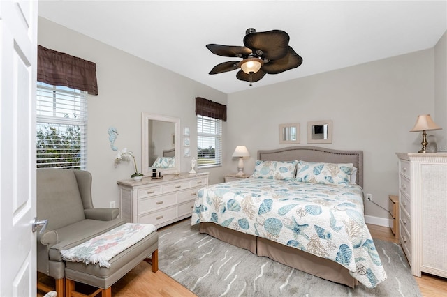
[[358,280],[354,279],[349,274],[348,269],[342,265],[296,248],[281,245],[265,238],[244,234],[210,222],[200,223],[200,233],[209,234],[221,241],[249,250],[259,257],[269,257],[281,264],[325,280],[330,280],[331,282],[345,284],[352,288],[358,284]]

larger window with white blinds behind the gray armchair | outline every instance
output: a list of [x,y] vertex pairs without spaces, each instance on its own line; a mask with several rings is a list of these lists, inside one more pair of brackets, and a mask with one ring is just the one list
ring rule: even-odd
[[87,92],[37,83],[37,168],[87,169]]

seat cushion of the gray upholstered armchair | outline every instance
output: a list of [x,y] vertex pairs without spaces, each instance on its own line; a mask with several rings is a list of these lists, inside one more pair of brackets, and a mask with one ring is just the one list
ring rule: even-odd
[[61,250],[73,248],[75,245],[84,243],[122,224],[124,224],[122,219],[110,221],[82,220],[53,230],[57,234],[57,243],[49,247],[48,256],[50,261],[62,261]]

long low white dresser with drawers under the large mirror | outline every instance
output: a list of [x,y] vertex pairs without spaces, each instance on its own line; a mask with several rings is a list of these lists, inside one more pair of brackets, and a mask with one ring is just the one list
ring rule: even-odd
[[161,179],[145,177],[117,183],[119,217],[159,228],[191,216],[198,190],[208,185],[208,173],[167,174]]

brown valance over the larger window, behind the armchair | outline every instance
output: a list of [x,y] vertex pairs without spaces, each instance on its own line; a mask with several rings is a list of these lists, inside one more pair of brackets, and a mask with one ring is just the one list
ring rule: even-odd
[[96,64],[38,45],[37,80],[98,95]]

